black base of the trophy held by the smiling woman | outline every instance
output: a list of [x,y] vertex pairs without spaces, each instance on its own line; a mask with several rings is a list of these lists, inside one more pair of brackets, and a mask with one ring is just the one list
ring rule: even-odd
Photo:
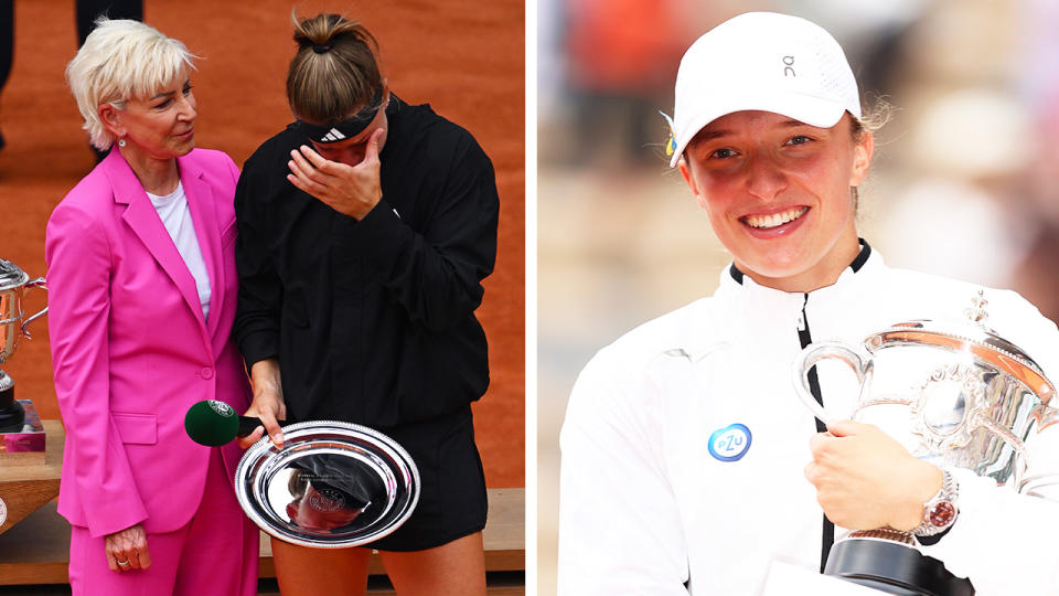
[[899,596],[973,596],[969,579],[937,558],[888,540],[846,539],[827,555],[824,575]]

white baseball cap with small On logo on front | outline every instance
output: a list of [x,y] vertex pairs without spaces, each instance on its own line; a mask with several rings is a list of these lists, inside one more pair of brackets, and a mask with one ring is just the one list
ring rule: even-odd
[[670,167],[703,127],[748,109],[831,128],[846,111],[860,118],[860,96],[842,46],[816,23],[775,12],[734,17],[681,60]]

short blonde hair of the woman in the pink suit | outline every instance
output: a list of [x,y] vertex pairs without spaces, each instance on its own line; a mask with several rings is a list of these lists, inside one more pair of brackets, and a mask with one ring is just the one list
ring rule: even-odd
[[151,97],[184,68],[194,70],[195,57],[179,40],[150,25],[99,18],[66,65],[66,81],[85,119],[82,128],[88,131],[89,142],[105,151],[115,140],[99,119],[99,106],[125,109],[129,99]]

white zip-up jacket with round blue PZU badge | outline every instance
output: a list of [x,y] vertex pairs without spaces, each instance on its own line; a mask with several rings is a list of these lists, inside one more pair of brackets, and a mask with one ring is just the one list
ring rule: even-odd
[[[757,595],[773,562],[819,571],[824,517],[803,476],[816,426],[792,387],[795,358],[807,341],[856,347],[896,322],[963,317],[980,289],[888,268],[865,244],[810,294],[728,267],[713,297],[600,350],[560,435],[559,594]],[[988,327],[1059,381],[1055,323],[1013,291],[985,299]],[[825,364],[824,405],[852,412],[856,380]],[[1059,472],[1059,424],[1030,449],[1037,471]],[[920,551],[980,596],[1059,595],[1059,502],[954,475],[960,515]]]

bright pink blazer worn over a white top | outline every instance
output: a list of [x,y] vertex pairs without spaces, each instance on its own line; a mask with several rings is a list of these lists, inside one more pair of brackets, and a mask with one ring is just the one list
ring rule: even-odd
[[[221,151],[176,160],[210,273],[203,319],[195,281],[131,168],[111,151],[47,223],[49,334],[66,428],[58,512],[93,536],[142,522],[186,523],[210,448],[188,438],[201,400],[249,406],[231,339],[238,279],[233,196],[238,168]],[[223,448],[229,477],[242,451]]]

